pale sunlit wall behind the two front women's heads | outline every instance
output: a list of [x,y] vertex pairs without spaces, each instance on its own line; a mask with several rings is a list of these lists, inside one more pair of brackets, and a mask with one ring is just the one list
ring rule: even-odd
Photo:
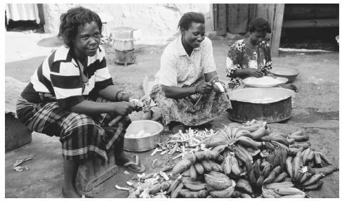
[[75,6],[89,8],[103,19],[112,18],[107,22],[108,33],[114,27],[132,27],[141,30],[143,40],[172,37],[182,14],[189,11],[204,13],[205,31],[213,31],[210,4],[44,4],[45,32],[58,33],[61,13]]

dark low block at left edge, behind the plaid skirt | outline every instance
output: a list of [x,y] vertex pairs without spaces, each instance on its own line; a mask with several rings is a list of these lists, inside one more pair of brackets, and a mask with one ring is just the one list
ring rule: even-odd
[[32,141],[32,132],[11,113],[5,114],[5,152]]

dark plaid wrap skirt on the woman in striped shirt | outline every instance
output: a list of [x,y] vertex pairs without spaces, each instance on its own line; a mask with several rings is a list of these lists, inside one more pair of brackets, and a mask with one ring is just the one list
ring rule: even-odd
[[[96,102],[108,102],[97,98]],[[62,155],[67,160],[84,160],[101,156],[107,161],[107,153],[113,149],[115,141],[123,140],[131,120],[114,113],[84,115],[68,112],[56,102],[30,103],[18,98],[16,112],[20,122],[31,131],[58,136],[62,143]],[[112,127],[108,123],[114,120]]]

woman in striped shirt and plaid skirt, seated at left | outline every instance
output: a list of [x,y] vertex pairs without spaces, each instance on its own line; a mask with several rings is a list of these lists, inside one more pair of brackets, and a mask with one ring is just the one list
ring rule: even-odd
[[[61,15],[58,35],[65,46],[37,68],[17,103],[17,115],[32,131],[59,136],[62,143],[64,197],[80,197],[75,176],[81,160],[114,151],[115,162],[134,171],[123,152],[134,97],[113,85],[104,49],[99,46],[102,22],[89,9],[77,7]],[[134,98],[135,100],[136,98]],[[110,122],[110,125],[108,123]]]

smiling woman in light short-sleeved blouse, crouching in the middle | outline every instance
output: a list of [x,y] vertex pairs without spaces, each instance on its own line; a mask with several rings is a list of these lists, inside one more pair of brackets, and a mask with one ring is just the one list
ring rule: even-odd
[[203,14],[185,13],[178,27],[182,35],[163,51],[156,74],[159,85],[151,92],[173,134],[184,126],[206,124],[232,108],[226,93],[214,90],[217,72],[213,46],[204,37]]

